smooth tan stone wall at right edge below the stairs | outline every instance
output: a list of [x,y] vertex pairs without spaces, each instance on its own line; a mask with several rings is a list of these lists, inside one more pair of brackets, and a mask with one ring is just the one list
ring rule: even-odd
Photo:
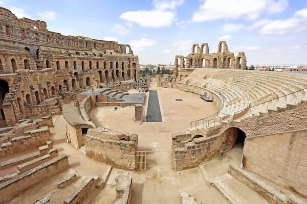
[[245,168],[307,197],[307,129],[248,137]]

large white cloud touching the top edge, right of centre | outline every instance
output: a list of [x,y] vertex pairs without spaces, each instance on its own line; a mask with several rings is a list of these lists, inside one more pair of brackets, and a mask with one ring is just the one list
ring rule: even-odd
[[193,14],[192,20],[196,22],[238,18],[256,20],[261,13],[279,13],[287,6],[288,0],[206,0]]

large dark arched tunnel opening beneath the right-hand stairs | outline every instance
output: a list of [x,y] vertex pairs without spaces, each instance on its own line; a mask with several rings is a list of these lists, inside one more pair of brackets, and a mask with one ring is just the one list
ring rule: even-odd
[[234,146],[243,149],[246,134],[242,130],[237,127],[229,127],[229,129],[223,133],[223,136],[225,137],[224,149],[226,151],[232,149]]

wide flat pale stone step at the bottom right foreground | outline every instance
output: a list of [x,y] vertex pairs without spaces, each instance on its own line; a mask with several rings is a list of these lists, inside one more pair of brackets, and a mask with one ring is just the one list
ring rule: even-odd
[[256,192],[240,183],[230,174],[217,176],[212,180],[215,188],[233,204],[268,204],[269,202]]

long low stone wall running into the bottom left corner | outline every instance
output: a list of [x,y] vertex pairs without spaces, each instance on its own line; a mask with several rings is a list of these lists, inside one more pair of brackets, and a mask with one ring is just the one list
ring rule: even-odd
[[67,156],[60,155],[46,163],[30,169],[29,171],[13,177],[13,179],[0,184],[0,203],[12,199],[23,191],[29,189],[31,186],[67,168]]

